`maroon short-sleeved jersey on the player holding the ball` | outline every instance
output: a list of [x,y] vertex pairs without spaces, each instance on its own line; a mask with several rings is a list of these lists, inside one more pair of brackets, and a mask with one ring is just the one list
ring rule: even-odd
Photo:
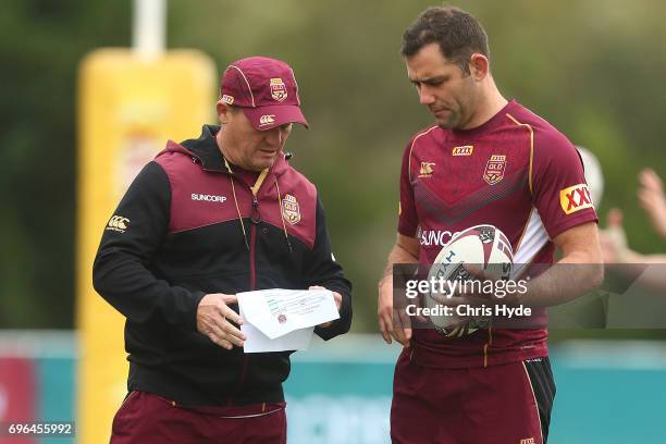
[[[516,101],[473,130],[430,127],[405,150],[398,232],[418,237],[420,264],[432,264],[453,235],[479,224],[506,234],[517,268],[551,264],[553,239],[591,221],[596,213],[576,148]],[[417,329],[412,359],[442,368],[498,365],[546,356],[546,338],[544,328],[491,324],[462,337]]]

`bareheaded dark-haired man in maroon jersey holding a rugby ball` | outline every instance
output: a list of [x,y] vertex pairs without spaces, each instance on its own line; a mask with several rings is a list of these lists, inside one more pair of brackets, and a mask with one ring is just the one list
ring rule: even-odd
[[[546,121],[502,96],[486,34],[467,12],[429,8],[406,30],[402,52],[436,124],[405,149],[397,240],[379,284],[384,341],[405,347],[395,369],[391,436],[409,444],[544,443],[555,395],[544,307],[585,293],[603,275],[580,158]],[[416,329],[418,319],[394,306],[393,264],[429,267],[455,233],[479,224],[506,234],[516,268],[531,278],[527,293],[504,303],[533,307],[541,322]],[[566,270],[547,268],[556,247]],[[536,275],[531,264],[546,271]]]

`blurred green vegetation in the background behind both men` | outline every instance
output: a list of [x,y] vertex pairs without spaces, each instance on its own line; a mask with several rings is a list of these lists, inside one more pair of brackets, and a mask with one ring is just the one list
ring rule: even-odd
[[[130,46],[132,4],[2,3],[0,328],[69,329],[76,272],[77,69],[96,48]],[[641,168],[666,176],[666,3],[449,3],[484,24],[505,97],[600,158],[606,181],[602,220],[620,207],[632,247],[666,250],[636,199]],[[398,53],[405,27],[430,4],[169,1],[169,48],[202,50],[220,71],[251,54],[293,65],[311,130],[298,128],[287,150],[319,186],[335,256],[355,284],[356,331],[377,330],[375,282],[395,238],[400,156],[410,135],[431,122]]]

